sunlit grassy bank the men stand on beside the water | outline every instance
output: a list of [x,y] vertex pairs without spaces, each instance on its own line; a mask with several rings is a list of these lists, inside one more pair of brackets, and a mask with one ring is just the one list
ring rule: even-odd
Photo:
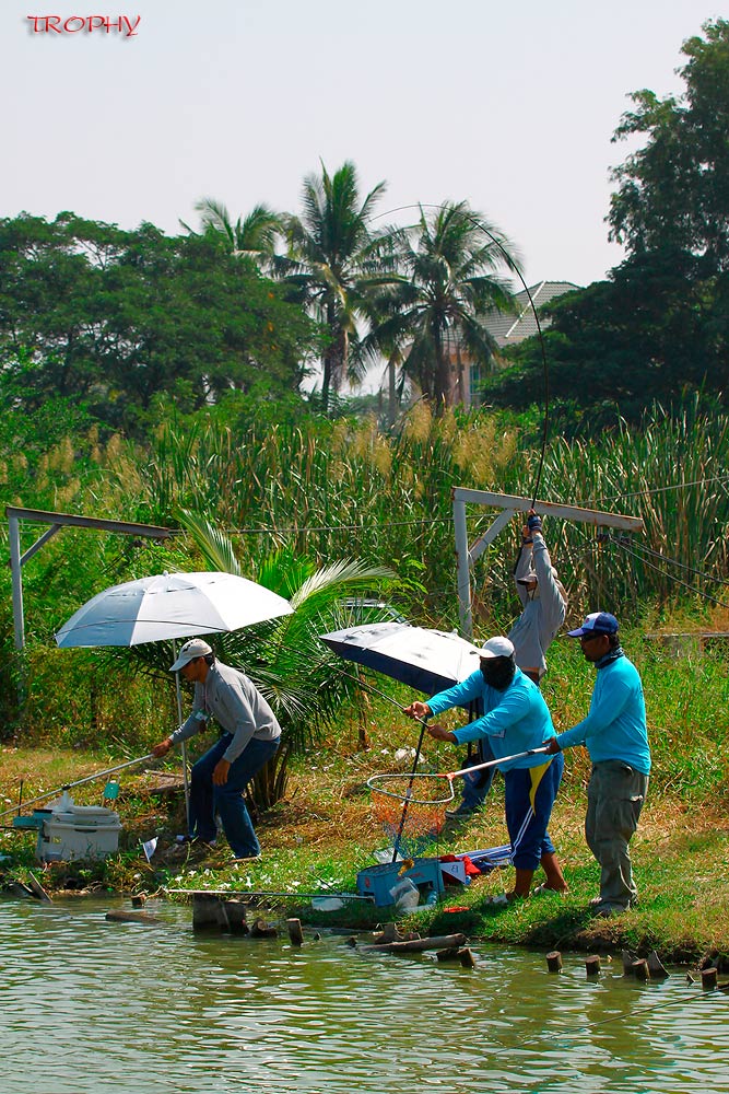
[[[649,652],[646,657],[658,655]],[[564,660],[564,659],[567,660]],[[589,696],[590,677],[579,662],[560,652],[551,673],[549,696],[557,720],[566,724]],[[638,660],[638,659],[636,659]],[[673,665],[671,670],[671,664]],[[565,778],[553,813],[551,833],[563,860],[569,894],[537,896],[507,908],[487,906],[489,897],[510,883],[509,871],[494,871],[469,887],[448,891],[446,899],[411,917],[408,926],[421,933],[462,930],[470,939],[544,948],[615,951],[642,955],[657,950],[665,962],[697,962],[718,952],[729,963],[729,793],[720,756],[726,726],[719,720],[694,722],[698,707],[712,703],[712,690],[726,687],[725,675],[702,665],[656,661],[665,687],[657,696],[645,661],[647,694],[652,708],[651,731],[657,770],[649,801],[632,845],[639,906],[611,920],[593,920],[589,898],[597,893],[598,866],[583,838],[587,761],[579,749],[567,754]],[[565,689],[569,678],[572,691]],[[689,686],[689,682],[692,686]],[[574,693],[574,694],[573,694]],[[557,695],[561,699],[557,699]],[[716,696],[715,696],[716,699]],[[704,714],[708,717],[708,711]],[[556,717],[556,714],[555,714]],[[658,718],[661,719],[659,724]],[[681,730],[681,719],[687,723]],[[404,724],[403,724],[404,723]],[[269,900],[280,912],[308,922],[368,928],[391,918],[388,909],[357,901],[333,912],[317,912],[310,894],[355,892],[356,873],[374,863],[372,852],[385,846],[373,818],[366,779],[376,771],[396,770],[408,760],[395,753],[415,743],[412,723],[396,711],[372,706],[366,715],[371,748],[357,750],[363,729],[353,718],[342,723],[336,745],[309,749],[297,757],[286,800],[258,822],[263,845],[261,862],[232,866],[221,847],[207,858],[171,858],[175,833],[183,830],[184,800],[176,761],[125,771],[118,811],[124,823],[117,856],[96,864],[52,864],[45,870],[34,860],[34,838],[17,830],[0,833],[5,884],[23,881],[33,870],[49,891],[108,891],[132,894],[158,889],[230,889],[289,894]],[[130,753],[133,755],[133,753]],[[448,746],[425,747],[428,766],[445,769],[452,759]],[[8,808],[24,780],[25,800],[54,787],[120,763],[107,752],[59,752],[4,748],[3,793]],[[177,761],[178,763],[178,761]],[[703,777],[701,766],[704,765]],[[104,780],[74,792],[81,804],[98,804]],[[8,823],[5,818],[3,823]],[[148,863],[141,840],[157,836],[158,847]],[[496,780],[485,810],[467,827],[444,837],[436,853],[468,851],[506,841],[501,780]],[[223,841],[224,842],[224,841]],[[536,881],[539,881],[537,875]],[[466,910],[445,909],[460,906]]]

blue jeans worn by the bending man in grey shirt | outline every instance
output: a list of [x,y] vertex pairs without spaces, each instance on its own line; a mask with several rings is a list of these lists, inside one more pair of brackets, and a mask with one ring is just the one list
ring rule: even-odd
[[212,842],[217,836],[220,816],[223,831],[236,859],[259,854],[261,846],[254,830],[243,793],[263,765],[275,755],[280,738],[275,741],[249,741],[237,759],[231,764],[227,782],[213,785],[213,770],[223,758],[233,735],[224,733],[220,741],[192,765],[190,775],[190,815],[188,818],[191,836]]

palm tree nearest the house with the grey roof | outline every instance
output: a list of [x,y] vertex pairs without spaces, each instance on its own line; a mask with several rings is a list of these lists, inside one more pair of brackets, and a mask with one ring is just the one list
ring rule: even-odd
[[519,271],[514,247],[459,201],[428,213],[421,207],[418,223],[391,229],[379,249],[398,277],[374,296],[363,351],[373,356],[384,348],[389,357],[399,350],[402,370],[440,412],[462,399],[466,361],[492,365],[496,344],[484,319],[493,309],[514,310],[501,272]]

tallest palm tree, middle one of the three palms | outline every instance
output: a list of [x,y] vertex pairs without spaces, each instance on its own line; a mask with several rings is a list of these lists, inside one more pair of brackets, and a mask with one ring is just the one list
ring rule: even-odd
[[332,176],[321,164],[320,177],[304,181],[302,217],[287,218],[289,256],[277,260],[277,269],[327,328],[321,356],[325,411],[330,392],[339,392],[344,375],[361,375],[360,359],[350,350],[358,340],[357,319],[366,300],[383,282],[369,222],[384,193],[385,183],[379,183],[361,202],[353,163],[343,163]]

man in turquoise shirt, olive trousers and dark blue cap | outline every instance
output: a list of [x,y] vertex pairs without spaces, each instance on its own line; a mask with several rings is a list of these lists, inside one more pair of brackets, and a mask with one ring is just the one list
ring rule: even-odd
[[618,620],[592,612],[578,638],[584,656],[597,668],[587,718],[544,744],[551,753],[585,745],[592,761],[587,789],[585,838],[600,863],[600,896],[595,915],[612,916],[637,901],[628,843],[648,791],[650,748],[646,705],[638,672],[623,652]]

